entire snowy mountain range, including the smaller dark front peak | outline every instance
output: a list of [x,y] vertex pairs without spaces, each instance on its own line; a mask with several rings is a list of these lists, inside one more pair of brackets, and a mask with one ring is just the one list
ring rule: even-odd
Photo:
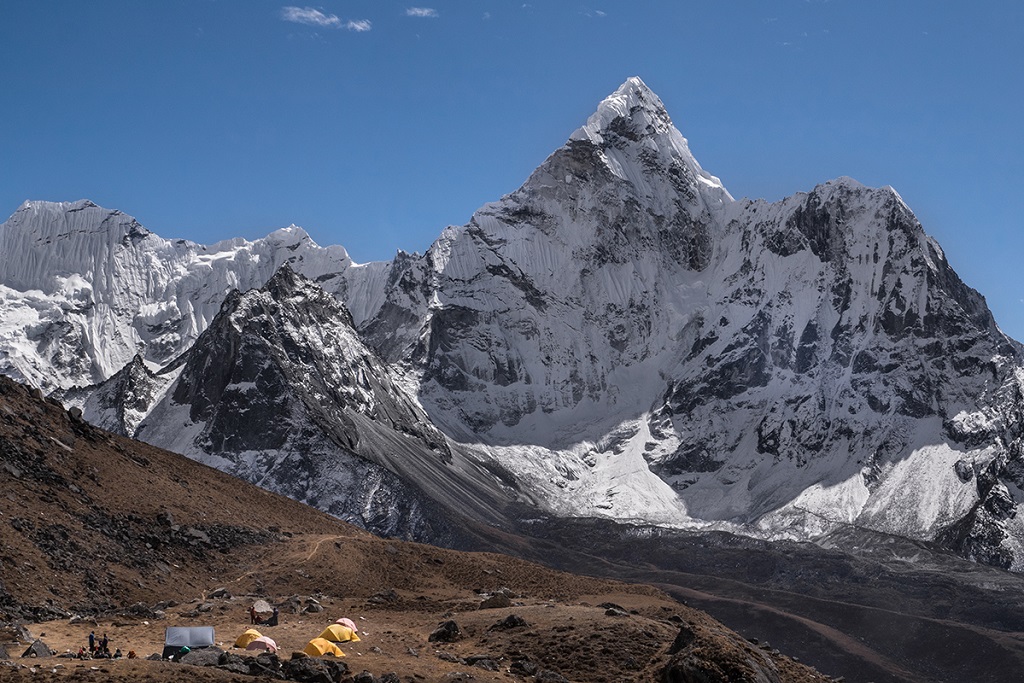
[[639,79],[422,255],[170,243],[89,203],[27,204],[0,247],[31,255],[0,269],[5,372],[380,532],[454,538],[452,506],[1024,567],[1022,352],[981,295],[891,188],[734,200]]

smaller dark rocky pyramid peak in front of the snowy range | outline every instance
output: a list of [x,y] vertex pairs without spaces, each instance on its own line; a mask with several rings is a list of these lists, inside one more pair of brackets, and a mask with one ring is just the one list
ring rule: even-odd
[[175,365],[139,438],[379,533],[459,545],[449,501],[410,475],[454,467],[444,436],[344,305],[289,266],[231,293]]

